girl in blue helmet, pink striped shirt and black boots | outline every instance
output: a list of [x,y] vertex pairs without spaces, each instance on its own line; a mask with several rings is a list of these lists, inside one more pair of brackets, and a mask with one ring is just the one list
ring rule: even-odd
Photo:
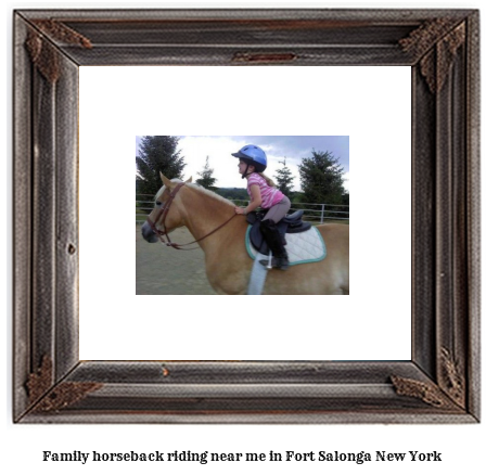
[[[239,170],[241,178],[246,178],[246,190],[251,200],[248,206],[235,207],[234,211],[236,215],[247,215],[261,206],[265,217],[260,229],[274,256],[272,265],[277,269],[285,270],[289,267],[289,256],[277,223],[285,217],[291,202],[276,188],[273,181],[263,174],[267,168],[267,155],[259,146],[245,145],[231,155],[240,158]],[[260,260],[260,262],[264,266],[268,265],[268,260]]]

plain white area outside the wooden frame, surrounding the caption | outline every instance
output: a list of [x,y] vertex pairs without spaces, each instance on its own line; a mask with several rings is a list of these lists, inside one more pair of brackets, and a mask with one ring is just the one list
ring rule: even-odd
[[[157,5],[163,5],[158,3]],[[248,4],[238,3],[242,7]],[[4,2],[5,5],[5,46],[7,46],[7,102],[3,107],[7,114],[7,128],[2,129],[3,143],[8,145],[8,156],[11,157],[11,11],[13,8],[102,8],[102,7],[150,7],[146,3],[123,4],[123,3],[55,3],[55,2]],[[195,3],[186,4],[194,7]],[[221,5],[221,4],[220,4]],[[234,5],[234,3],[233,3]],[[476,8],[481,7],[478,1],[470,2],[348,2],[348,3],[270,3],[265,2],[253,7],[310,7],[310,8]],[[178,4],[177,7],[184,7]],[[250,5],[252,7],[252,5]],[[484,107],[483,107],[484,110]],[[130,140],[130,150],[132,150],[132,139]],[[353,156],[353,150],[351,150]],[[7,229],[11,229],[11,159],[4,162],[4,177],[7,191]],[[354,163],[351,161],[351,169]],[[484,440],[486,431],[484,424],[475,425],[337,425],[337,426],[235,426],[235,425],[215,425],[215,426],[159,426],[159,425],[13,425],[11,423],[11,368],[12,368],[12,323],[11,316],[11,291],[10,278],[12,275],[12,236],[8,232],[7,243],[7,285],[5,299],[5,338],[4,342],[4,369],[2,378],[2,440],[3,450],[1,458],[2,473],[50,473],[61,474],[69,472],[72,474],[100,473],[104,474],[107,470],[116,471],[118,474],[161,474],[161,473],[206,473],[218,474],[228,472],[234,474],[246,474],[248,470],[256,473],[277,472],[279,474],[295,474],[297,471],[305,474],[414,474],[425,475],[430,473],[474,473],[479,474],[485,471],[484,461]],[[3,288],[3,287],[2,287]],[[3,294],[2,294],[3,296]],[[484,381],[484,377],[483,377]],[[484,395],[483,390],[483,395]],[[484,407],[484,396],[483,396]],[[80,463],[46,463],[41,461],[42,450],[52,451],[170,451],[170,450],[192,450],[192,451],[240,451],[240,452],[268,452],[269,450],[340,450],[340,451],[371,451],[387,450],[391,452],[402,452],[408,450],[421,450],[424,452],[437,450],[442,452],[444,462],[417,464],[413,462],[391,462],[391,463],[369,463],[356,465],[354,463],[311,463],[311,464],[279,464],[271,465],[267,463],[251,466],[248,464],[174,464],[158,465],[151,464],[140,466],[135,463],[111,464],[111,465],[81,465]]]

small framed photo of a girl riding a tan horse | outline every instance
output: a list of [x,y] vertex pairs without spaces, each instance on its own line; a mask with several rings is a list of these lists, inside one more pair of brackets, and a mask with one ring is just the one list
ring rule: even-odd
[[348,137],[137,146],[138,295],[349,295]]

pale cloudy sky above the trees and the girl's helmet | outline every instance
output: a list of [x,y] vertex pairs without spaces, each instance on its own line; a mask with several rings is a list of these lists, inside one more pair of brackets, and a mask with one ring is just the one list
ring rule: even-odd
[[[294,177],[294,191],[300,191],[298,165],[302,158],[310,157],[312,150],[317,152],[331,152],[344,167],[344,187],[349,191],[349,137],[348,136],[179,136],[179,150],[187,163],[183,178],[192,176],[192,181],[201,178],[206,157],[209,157],[209,167],[214,169],[216,187],[245,188],[238,172],[238,158],[231,156],[247,144],[260,146],[267,154],[268,167],[266,175],[276,178],[276,170],[282,168],[281,162],[285,159]],[[136,153],[141,137],[137,137]],[[171,178],[171,177],[168,177]]]

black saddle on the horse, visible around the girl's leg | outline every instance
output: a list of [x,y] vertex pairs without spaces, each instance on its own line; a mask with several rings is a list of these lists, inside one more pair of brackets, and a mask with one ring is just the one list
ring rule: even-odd
[[[285,234],[296,234],[308,231],[311,228],[310,222],[302,220],[303,215],[304,211],[299,209],[291,215],[286,215],[277,223],[277,228],[283,238],[284,245],[286,244]],[[250,230],[250,241],[253,247],[260,254],[268,256],[269,247],[260,230],[264,216],[265,211],[252,211],[246,215],[246,221],[252,224]]]

